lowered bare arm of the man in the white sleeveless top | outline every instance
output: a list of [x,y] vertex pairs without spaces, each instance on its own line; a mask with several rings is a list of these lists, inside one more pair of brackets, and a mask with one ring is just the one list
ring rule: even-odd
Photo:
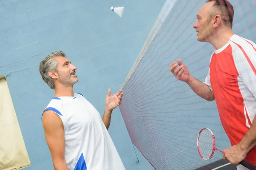
[[69,170],[64,156],[64,127],[61,118],[53,111],[45,111],[42,122],[54,170]]

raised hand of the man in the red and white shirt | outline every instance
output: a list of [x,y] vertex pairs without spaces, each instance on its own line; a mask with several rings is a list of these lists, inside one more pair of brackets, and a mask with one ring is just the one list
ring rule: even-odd
[[180,59],[177,60],[177,63],[172,62],[172,64],[170,64],[170,71],[178,80],[186,82],[190,79],[189,69],[181,62]]

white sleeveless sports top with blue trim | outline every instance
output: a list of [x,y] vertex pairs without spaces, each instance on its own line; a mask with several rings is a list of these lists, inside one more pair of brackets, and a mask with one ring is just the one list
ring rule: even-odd
[[63,122],[70,170],[125,170],[99,112],[82,94],[52,97],[47,110],[57,113]]

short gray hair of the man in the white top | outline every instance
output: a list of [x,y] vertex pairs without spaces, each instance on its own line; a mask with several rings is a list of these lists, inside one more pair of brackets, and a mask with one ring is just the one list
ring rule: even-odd
[[66,57],[63,51],[54,51],[45,57],[45,59],[42,60],[39,65],[39,72],[44,82],[46,82],[46,84],[49,85],[51,89],[54,89],[54,84],[48,72],[57,71],[58,62],[55,60],[55,57],[58,56]]

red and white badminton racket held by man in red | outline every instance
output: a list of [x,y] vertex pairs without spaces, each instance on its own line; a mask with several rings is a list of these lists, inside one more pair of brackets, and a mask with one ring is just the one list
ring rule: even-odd
[[[214,134],[212,133],[212,130],[208,128],[203,128],[200,130],[198,134],[198,139],[197,139],[197,147],[198,147],[198,153],[199,155],[204,159],[204,160],[209,160],[212,158],[213,153],[215,150],[218,150],[215,147],[215,137]],[[218,150],[221,153],[223,151]],[[250,164],[247,161],[241,161],[239,164],[243,165],[244,167],[247,167],[250,170],[256,170],[256,166],[253,164]]]

